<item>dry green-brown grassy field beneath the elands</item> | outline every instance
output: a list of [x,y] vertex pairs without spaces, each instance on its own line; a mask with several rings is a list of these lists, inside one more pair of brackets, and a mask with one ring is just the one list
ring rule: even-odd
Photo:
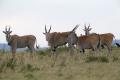
[[0,53],[0,80],[120,80],[120,48],[114,47],[112,54],[106,49],[57,53],[57,58],[49,50],[17,53],[13,62],[11,53]]

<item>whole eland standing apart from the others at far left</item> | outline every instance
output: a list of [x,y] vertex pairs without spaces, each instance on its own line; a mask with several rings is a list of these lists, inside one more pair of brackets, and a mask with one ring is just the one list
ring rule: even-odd
[[28,47],[32,53],[35,51],[34,45],[36,37],[34,35],[25,36],[11,35],[12,31],[10,30],[10,26],[9,29],[7,29],[6,26],[5,31],[3,31],[3,33],[6,35],[6,41],[8,42],[8,45],[11,47],[13,59],[15,58],[17,48]]

